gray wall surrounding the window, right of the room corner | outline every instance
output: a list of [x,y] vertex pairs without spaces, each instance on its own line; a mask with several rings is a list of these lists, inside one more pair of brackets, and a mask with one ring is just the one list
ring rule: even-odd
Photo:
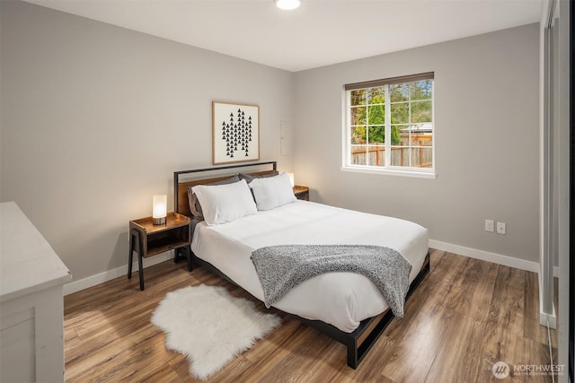
[[[297,182],[316,201],[538,262],[538,57],[535,23],[296,73]],[[341,171],[343,84],[431,71],[438,177]],[[485,219],[506,222],[507,235],[484,231]]]

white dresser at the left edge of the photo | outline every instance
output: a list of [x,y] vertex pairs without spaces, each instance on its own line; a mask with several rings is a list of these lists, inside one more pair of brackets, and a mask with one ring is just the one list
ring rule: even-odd
[[64,381],[62,286],[71,278],[18,205],[0,204],[0,382]]

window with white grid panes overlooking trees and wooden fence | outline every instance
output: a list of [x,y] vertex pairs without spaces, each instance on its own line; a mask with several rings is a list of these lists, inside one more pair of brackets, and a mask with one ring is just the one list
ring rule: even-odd
[[344,169],[433,175],[433,73],[345,86]]

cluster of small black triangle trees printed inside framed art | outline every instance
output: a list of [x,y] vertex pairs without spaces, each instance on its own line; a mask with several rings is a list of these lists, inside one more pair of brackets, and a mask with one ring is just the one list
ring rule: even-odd
[[226,156],[237,158],[249,157],[252,141],[252,116],[246,116],[245,111],[237,109],[237,114],[230,113],[229,119],[222,121],[222,140],[226,142]]

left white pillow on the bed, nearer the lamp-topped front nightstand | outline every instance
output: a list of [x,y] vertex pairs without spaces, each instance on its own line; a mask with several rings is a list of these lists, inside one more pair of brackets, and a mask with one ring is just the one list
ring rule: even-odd
[[210,226],[258,213],[244,179],[233,184],[198,185],[191,189],[198,197],[204,220]]

